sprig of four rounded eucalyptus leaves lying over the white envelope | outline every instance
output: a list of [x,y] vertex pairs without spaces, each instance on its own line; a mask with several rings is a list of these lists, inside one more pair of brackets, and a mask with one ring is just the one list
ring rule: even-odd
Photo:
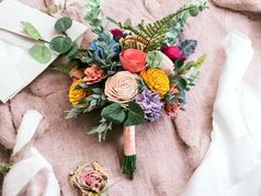
[[77,52],[77,44],[67,37],[66,31],[72,27],[71,18],[61,18],[54,29],[60,35],[53,38],[50,42],[44,40],[41,33],[31,22],[23,22],[24,31],[32,40],[38,41],[30,50],[30,55],[39,63],[49,63],[52,60],[52,54],[66,54],[67,58]]

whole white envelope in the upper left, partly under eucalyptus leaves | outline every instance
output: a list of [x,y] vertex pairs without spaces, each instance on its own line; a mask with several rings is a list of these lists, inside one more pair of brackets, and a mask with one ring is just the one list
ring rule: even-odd
[[[55,35],[56,19],[17,0],[0,2],[0,100],[6,103],[18,92],[41,74],[52,61],[46,64],[38,63],[28,53],[35,41],[28,39],[22,22],[31,22],[44,40],[51,41]],[[67,30],[73,41],[86,31],[82,23],[73,21]]]

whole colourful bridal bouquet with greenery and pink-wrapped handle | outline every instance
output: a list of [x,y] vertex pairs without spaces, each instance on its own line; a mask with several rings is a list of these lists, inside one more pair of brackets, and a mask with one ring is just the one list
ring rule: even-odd
[[[65,30],[72,24],[67,18],[55,24],[56,31],[64,35],[51,42],[52,50],[65,53],[71,60],[66,68],[53,68],[63,72],[69,70],[73,81],[69,91],[72,109],[66,117],[100,109],[100,124],[88,132],[96,134],[98,141],[105,140],[114,124],[123,125],[122,171],[133,178],[136,169],[135,126],[155,122],[164,112],[176,116],[184,110],[186,92],[198,79],[198,69],[206,55],[187,62],[197,41],[180,40],[179,35],[189,17],[198,16],[207,9],[207,3],[185,4],[160,20],[152,23],[142,20],[138,24],[133,24],[130,19],[123,23],[112,18],[102,19],[100,0],[88,0],[86,9],[85,20],[97,35],[90,48],[69,44]],[[104,21],[117,28],[107,30]]]

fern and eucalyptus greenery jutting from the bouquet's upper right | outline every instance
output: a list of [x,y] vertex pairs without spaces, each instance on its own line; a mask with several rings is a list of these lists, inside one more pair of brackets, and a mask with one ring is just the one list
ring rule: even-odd
[[174,44],[179,37],[189,17],[195,17],[196,10],[202,11],[207,8],[206,2],[186,4],[176,13],[171,13],[161,20],[145,24],[142,21],[133,27],[130,19],[124,22],[123,28],[129,30],[146,43],[145,51],[159,50],[164,44]]

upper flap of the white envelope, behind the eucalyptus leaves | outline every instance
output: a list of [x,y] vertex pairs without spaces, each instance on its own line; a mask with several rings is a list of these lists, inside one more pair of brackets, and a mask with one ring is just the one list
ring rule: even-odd
[[[51,41],[58,35],[54,31],[56,19],[53,17],[17,0],[3,0],[0,2],[0,29],[27,35],[22,24],[23,21],[31,22],[46,41]],[[85,30],[86,27],[84,24],[73,21],[73,25],[67,31],[67,34],[72,40],[76,40]]]

